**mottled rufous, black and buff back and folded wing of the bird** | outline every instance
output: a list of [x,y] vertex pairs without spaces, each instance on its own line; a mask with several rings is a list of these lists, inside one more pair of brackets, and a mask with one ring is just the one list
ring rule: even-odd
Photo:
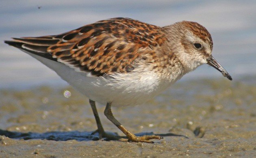
[[98,21],[54,36],[14,38],[23,49],[50,53],[68,66],[92,75],[127,73],[167,39],[161,27],[128,18]]

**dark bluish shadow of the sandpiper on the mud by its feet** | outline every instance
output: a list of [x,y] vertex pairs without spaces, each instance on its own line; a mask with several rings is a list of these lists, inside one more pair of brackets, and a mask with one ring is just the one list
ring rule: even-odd
[[[53,131],[53,132],[44,132],[44,133],[37,133],[37,132],[11,132],[8,130],[1,130],[0,135],[4,135],[5,137],[9,137],[12,139],[46,139],[46,140],[53,140],[53,141],[67,141],[67,140],[76,140],[76,141],[97,141],[99,140],[98,133],[91,135],[92,132],[79,132],[79,131],[69,131],[69,132],[60,132],[60,131]],[[111,135],[116,135],[116,133],[108,132]],[[143,136],[143,135],[154,135],[153,132],[142,132],[135,134],[136,136]],[[176,135],[173,133],[166,133],[166,134],[155,134],[162,137],[174,136],[174,137],[184,137],[188,138],[184,135]]]

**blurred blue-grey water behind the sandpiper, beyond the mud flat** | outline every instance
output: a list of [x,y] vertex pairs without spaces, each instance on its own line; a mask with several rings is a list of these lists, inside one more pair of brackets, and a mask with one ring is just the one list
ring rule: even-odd
[[[213,56],[233,79],[256,83],[255,0],[1,0],[0,88],[67,85],[52,70],[4,40],[59,34],[112,17],[130,17],[157,26],[196,21],[211,33]],[[203,65],[182,80],[220,77],[217,70]]]

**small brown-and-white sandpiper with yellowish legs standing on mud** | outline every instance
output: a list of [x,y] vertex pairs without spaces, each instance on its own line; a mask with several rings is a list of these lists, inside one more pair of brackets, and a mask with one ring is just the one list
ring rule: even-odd
[[[129,18],[98,21],[59,35],[13,38],[5,43],[36,58],[89,98],[100,138],[154,143],[156,135],[137,137],[119,123],[111,105],[139,105],[167,89],[184,74],[209,64],[232,80],[211,55],[213,41],[191,21],[158,27]],[[95,101],[127,139],[107,134]]]

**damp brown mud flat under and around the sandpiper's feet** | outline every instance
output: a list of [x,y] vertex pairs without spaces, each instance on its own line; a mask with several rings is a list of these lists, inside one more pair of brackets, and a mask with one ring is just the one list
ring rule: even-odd
[[[99,140],[87,97],[71,87],[0,90],[0,157],[256,156],[256,77],[174,84],[144,105],[113,107],[154,144]],[[124,134],[96,105],[105,131]]]

